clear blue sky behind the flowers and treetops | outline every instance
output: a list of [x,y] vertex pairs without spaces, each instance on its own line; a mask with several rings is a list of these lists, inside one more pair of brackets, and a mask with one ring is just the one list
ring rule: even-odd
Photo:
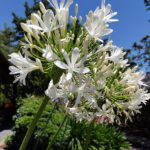
[[[33,0],[26,0],[32,4]],[[112,10],[117,11],[115,18],[119,22],[111,23],[111,28],[114,32],[111,34],[111,39],[114,44],[130,48],[135,41],[139,41],[146,34],[150,34],[150,12],[146,11],[144,0],[106,0],[111,3]],[[0,5],[0,29],[3,29],[4,22],[12,26],[12,11],[18,16],[24,16],[24,2],[25,0],[1,0]],[[74,0],[74,4],[79,4],[79,14],[85,21],[85,15],[89,10],[101,4],[101,0]],[[74,15],[74,4],[70,7],[70,14]]]

